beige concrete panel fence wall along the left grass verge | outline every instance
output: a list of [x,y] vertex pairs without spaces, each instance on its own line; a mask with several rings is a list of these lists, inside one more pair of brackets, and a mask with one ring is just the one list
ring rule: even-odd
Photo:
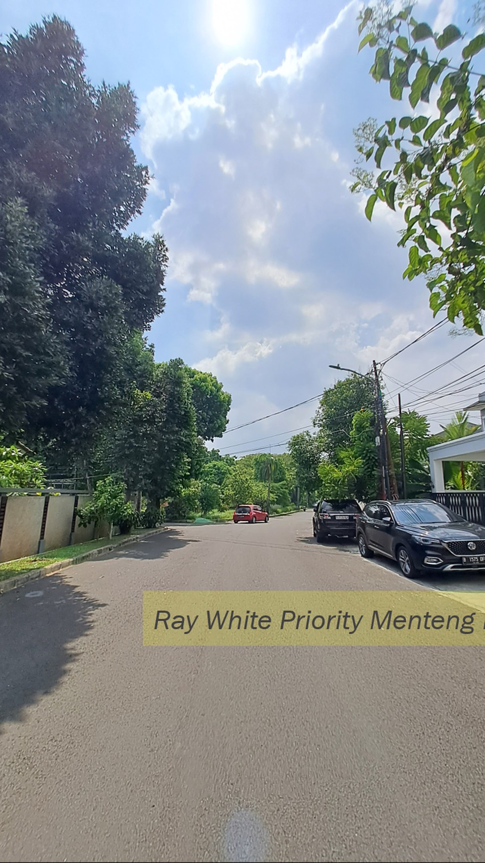
[[93,539],[94,525],[81,527],[78,518],[73,524],[74,507],[82,509],[89,500],[88,494],[7,496],[0,492],[0,561]]

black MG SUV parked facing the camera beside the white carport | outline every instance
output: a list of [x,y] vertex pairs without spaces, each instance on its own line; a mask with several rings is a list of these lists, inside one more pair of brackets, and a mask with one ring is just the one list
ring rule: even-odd
[[485,570],[485,527],[435,501],[371,501],[358,516],[362,557],[383,554],[403,575]]

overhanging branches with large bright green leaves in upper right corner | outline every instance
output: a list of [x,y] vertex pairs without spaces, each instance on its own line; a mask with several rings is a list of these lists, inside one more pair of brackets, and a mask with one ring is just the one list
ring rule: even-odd
[[[396,203],[404,208],[406,229],[398,245],[410,248],[403,278],[424,275],[432,312],[445,309],[451,321],[462,318],[482,334],[485,75],[472,60],[485,47],[485,34],[465,42],[454,24],[433,34],[412,11],[410,4],[395,13],[390,0],[382,0],[358,16],[359,34],[364,32],[359,50],[376,47],[370,74],[389,81],[396,101],[406,91],[411,110],[378,128],[372,120],[359,127],[358,153],[367,162],[373,158],[378,173],[358,168],[352,191],[370,189],[369,219],[378,200],[392,210]],[[442,54],[447,49],[449,56]],[[428,107],[435,96],[438,117]]]

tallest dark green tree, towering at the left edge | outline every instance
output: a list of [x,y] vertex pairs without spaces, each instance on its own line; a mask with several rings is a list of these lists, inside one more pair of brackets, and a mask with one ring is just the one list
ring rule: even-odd
[[[0,231],[17,207],[7,233],[18,257],[3,252],[11,273],[3,313],[15,327],[16,354],[19,344],[25,348],[14,381],[29,381],[25,438],[86,458],[126,398],[134,330],[146,330],[165,305],[163,238],[125,236],[149,182],[130,145],[138,129],[134,94],[127,85],[90,83],[83,47],[57,16],[0,45],[0,94]],[[26,292],[33,310],[27,336],[17,300]],[[0,387],[0,413],[8,409]],[[23,424],[17,409],[12,431]]]

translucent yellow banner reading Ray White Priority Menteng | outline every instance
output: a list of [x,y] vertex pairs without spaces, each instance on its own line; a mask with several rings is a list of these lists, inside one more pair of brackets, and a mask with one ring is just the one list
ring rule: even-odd
[[143,644],[484,646],[481,605],[437,590],[146,590]]

